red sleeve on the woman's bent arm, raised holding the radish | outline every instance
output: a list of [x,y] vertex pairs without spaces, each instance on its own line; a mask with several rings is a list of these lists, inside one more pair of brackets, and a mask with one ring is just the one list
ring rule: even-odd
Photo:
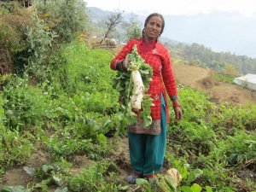
[[117,66],[119,65],[120,61],[125,59],[125,56],[129,53],[131,53],[132,47],[133,47],[134,42],[130,40],[123,49],[119,52],[118,55],[116,55],[113,58],[113,61],[110,63],[110,68],[113,70],[117,70]]

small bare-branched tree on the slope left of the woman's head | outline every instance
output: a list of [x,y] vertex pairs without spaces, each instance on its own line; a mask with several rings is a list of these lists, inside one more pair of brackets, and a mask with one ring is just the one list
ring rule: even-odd
[[114,27],[117,26],[123,19],[123,11],[114,11],[111,15],[108,16],[108,19],[105,21],[107,26],[106,32],[104,32],[104,37],[100,44],[102,44],[106,38],[108,38],[109,33],[113,31]]

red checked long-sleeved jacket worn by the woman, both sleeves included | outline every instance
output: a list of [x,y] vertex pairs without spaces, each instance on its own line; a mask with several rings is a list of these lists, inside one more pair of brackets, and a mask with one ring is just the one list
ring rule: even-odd
[[[110,67],[117,70],[120,61],[125,59],[128,53],[131,53],[133,45],[137,44],[138,54],[143,57],[146,63],[153,68],[152,81],[149,84],[148,94],[154,99],[154,106],[151,106],[151,116],[153,120],[160,119],[161,93],[166,100],[166,117],[169,122],[169,105],[166,97],[166,91],[172,100],[177,99],[177,87],[172,71],[172,61],[168,49],[162,44],[155,42],[147,44],[143,38],[131,39],[111,61]],[[165,84],[165,86],[164,86]],[[165,90],[166,87],[166,90]]]

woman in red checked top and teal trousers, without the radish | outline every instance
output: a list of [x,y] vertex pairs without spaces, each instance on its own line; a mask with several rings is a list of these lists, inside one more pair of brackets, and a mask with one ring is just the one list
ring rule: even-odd
[[148,15],[144,23],[143,38],[131,39],[110,64],[113,70],[126,70],[129,61],[125,60],[125,56],[131,53],[133,45],[137,44],[139,55],[153,68],[153,77],[147,92],[154,99],[154,106],[150,108],[153,123],[145,129],[138,120],[137,124],[127,127],[131,165],[134,170],[127,178],[128,183],[136,183],[137,177],[154,178],[163,166],[166,126],[169,122],[166,91],[172,100],[176,119],[182,119],[183,116],[177,102],[177,87],[168,49],[158,42],[164,27],[165,20],[162,15]]

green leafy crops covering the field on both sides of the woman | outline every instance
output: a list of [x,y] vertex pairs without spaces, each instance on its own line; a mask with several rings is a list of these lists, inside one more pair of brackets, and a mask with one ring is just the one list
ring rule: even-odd
[[[128,190],[118,179],[114,162],[105,162],[112,148],[109,137],[119,136],[119,93],[112,87],[116,73],[109,68],[112,58],[108,50],[89,49],[76,41],[49,55],[49,73],[43,82],[34,82],[27,74],[9,77],[0,95],[2,173],[24,165],[38,149],[37,143],[43,143],[53,167],[60,162],[65,166],[63,162],[72,162],[75,155],[85,155],[99,166],[86,166],[77,175],[55,168],[45,173],[45,166],[38,167],[34,177],[39,183],[32,191],[47,191],[49,180],[61,180],[57,186],[62,191],[67,191],[65,187]],[[250,177],[241,182],[238,173],[253,172],[255,166],[256,106],[217,105],[189,87],[179,87],[179,96],[183,120],[171,120],[165,161],[166,168],[176,167],[183,175],[178,190],[255,189]],[[173,112],[170,115],[173,119]],[[141,189],[154,191],[145,183]]]

